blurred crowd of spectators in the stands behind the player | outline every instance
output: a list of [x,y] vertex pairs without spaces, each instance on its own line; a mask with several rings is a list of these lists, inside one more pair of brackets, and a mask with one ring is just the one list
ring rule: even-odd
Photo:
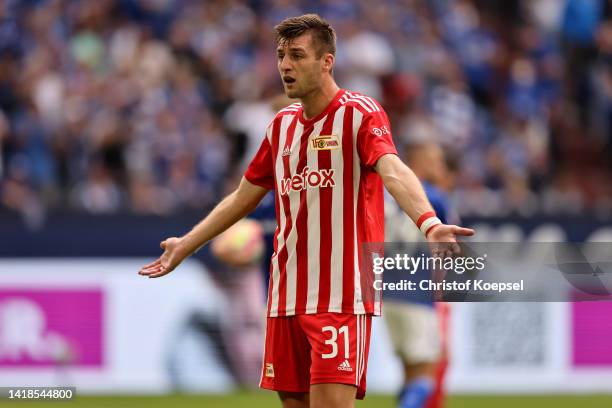
[[0,207],[214,204],[282,91],[273,26],[304,12],[399,146],[444,147],[460,214],[612,213],[608,0],[0,0]]

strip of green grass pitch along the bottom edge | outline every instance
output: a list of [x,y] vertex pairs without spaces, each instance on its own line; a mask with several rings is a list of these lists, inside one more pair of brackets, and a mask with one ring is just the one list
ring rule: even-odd
[[[64,407],[64,408],[268,408],[280,407],[276,395],[270,392],[239,392],[228,395],[139,396],[80,396],[72,401],[10,402],[2,407]],[[610,408],[612,395],[544,395],[544,396],[453,396],[446,408]],[[370,395],[358,401],[356,408],[395,408],[393,397]]]

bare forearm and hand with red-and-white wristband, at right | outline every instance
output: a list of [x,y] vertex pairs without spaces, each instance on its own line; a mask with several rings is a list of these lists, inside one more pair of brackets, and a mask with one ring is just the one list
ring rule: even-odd
[[376,162],[380,175],[389,193],[399,206],[426,234],[429,242],[453,244],[450,250],[457,252],[457,236],[474,235],[471,228],[443,224],[436,216],[427,199],[425,190],[414,172],[395,154],[384,154]]

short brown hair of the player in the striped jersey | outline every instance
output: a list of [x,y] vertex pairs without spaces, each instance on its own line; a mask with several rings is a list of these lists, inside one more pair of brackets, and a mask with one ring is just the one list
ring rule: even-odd
[[304,14],[299,17],[287,18],[275,26],[274,31],[276,31],[277,44],[291,41],[305,32],[310,32],[315,46],[319,47],[318,58],[324,52],[336,56],[336,31],[331,24],[318,14]]

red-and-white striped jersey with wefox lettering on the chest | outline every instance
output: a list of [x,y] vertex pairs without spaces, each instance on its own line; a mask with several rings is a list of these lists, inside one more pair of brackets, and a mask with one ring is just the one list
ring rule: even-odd
[[308,120],[299,103],[277,113],[245,173],[276,192],[268,316],[380,314],[361,252],[364,243],[384,242],[374,166],[387,153],[397,154],[389,119],[367,96],[340,90]]

